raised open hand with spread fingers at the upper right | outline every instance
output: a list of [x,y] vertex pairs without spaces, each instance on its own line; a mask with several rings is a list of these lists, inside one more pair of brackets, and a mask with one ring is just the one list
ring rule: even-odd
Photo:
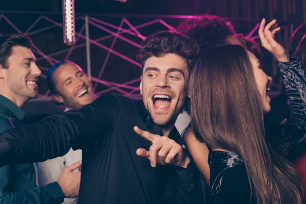
[[289,56],[286,49],[275,40],[275,33],[281,30],[277,27],[276,20],[269,22],[266,27],[266,19],[263,19],[259,27],[259,37],[262,46],[266,48],[279,62],[289,62]]

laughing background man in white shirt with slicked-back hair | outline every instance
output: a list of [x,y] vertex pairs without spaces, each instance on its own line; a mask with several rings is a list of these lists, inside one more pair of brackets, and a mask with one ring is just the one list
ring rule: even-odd
[[[71,61],[60,61],[49,68],[47,84],[52,92],[53,99],[64,104],[66,110],[78,110],[86,104],[90,104],[95,95],[92,84],[83,69]],[[64,168],[82,160],[82,150],[72,148],[63,157],[37,163],[40,185],[47,185],[58,181]],[[79,171],[77,169],[75,171]],[[65,198],[65,204],[77,203],[78,198]]]

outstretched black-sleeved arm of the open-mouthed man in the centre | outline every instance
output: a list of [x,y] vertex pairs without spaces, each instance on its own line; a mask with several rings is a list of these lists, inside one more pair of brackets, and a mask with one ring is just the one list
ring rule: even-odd
[[0,135],[0,166],[63,156],[70,147],[82,149],[97,132],[106,140],[109,129],[107,114],[96,104],[10,129]]

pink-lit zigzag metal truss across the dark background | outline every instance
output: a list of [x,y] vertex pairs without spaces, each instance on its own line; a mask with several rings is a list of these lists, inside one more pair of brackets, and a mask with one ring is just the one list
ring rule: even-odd
[[[191,18],[193,16],[186,16],[185,18]],[[171,18],[177,18],[177,19],[184,19],[184,17],[182,16],[172,16]],[[34,34],[37,33],[41,33],[41,32],[45,32],[45,31],[49,31],[51,29],[60,27],[63,28],[63,23],[62,22],[58,22],[46,15],[40,15],[30,26],[27,30],[25,30],[24,32],[21,32],[18,27],[4,14],[0,15],[0,21],[7,21],[9,23],[9,25],[16,31],[16,33],[23,33],[29,37],[31,37]],[[51,23],[51,25],[47,25],[43,28],[39,28],[37,30],[35,30],[34,28],[36,27],[36,25],[41,22],[41,21],[47,21],[49,23]],[[65,48],[65,49],[59,49],[54,53],[49,53],[49,54],[45,54],[42,52],[41,48],[39,48],[38,46],[36,46],[35,44],[33,44],[32,47],[32,51],[35,54],[39,54],[41,57],[38,57],[37,60],[41,61],[44,60],[46,62],[49,63],[49,65],[53,65],[54,63],[60,61],[60,60],[67,60],[69,59],[71,53],[73,52],[74,49],[77,48],[81,48],[81,47],[85,47],[86,43],[77,43],[80,39],[86,39],[86,36],[83,34],[84,30],[85,30],[85,17],[84,16],[78,16],[77,18],[75,18],[75,20],[79,20],[78,23],[80,25],[80,21],[83,23],[83,25],[81,26],[81,28],[79,29],[78,32],[76,32],[76,43],[72,46],[70,46],[69,48]],[[253,20],[252,20],[253,21]],[[240,21],[241,22],[241,21]],[[81,23],[81,24],[82,24]],[[103,77],[103,74],[105,72],[106,69],[106,65],[109,62],[109,58],[111,55],[115,55],[120,57],[121,59],[131,63],[131,65],[133,65],[134,67],[140,67],[139,62],[136,62],[134,59],[131,59],[129,57],[127,57],[126,55],[119,53],[118,51],[116,51],[114,49],[114,46],[117,42],[118,39],[123,40],[124,42],[128,43],[129,46],[133,46],[133,47],[140,47],[140,44],[135,42],[135,37],[142,41],[146,38],[145,35],[143,35],[139,29],[147,27],[149,25],[153,25],[156,23],[159,23],[160,25],[163,25],[163,27],[165,28],[164,30],[174,30],[174,28],[168,24],[166,21],[162,20],[162,19],[154,19],[154,20],[147,20],[147,22],[144,23],[140,23],[140,24],[132,24],[129,20],[127,20],[126,18],[121,18],[121,21],[118,25],[101,20],[101,19],[97,19],[94,17],[88,17],[88,23],[92,26],[95,27],[96,29],[99,29],[103,32],[108,33],[108,35],[100,37],[98,39],[89,39],[90,44],[92,45],[96,45],[101,49],[106,50],[107,55],[106,58],[104,59],[103,65],[99,68],[99,72],[97,75],[94,75],[91,77],[91,80],[93,82],[93,86],[94,86],[94,90],[96,92],[97,95],[103,94],[103,93],[107,93],[110,91],[116,91],[120,94],[132,97],[132,98],[140,98],[140,94],[139,94],[139,88],[138,86],[135,86],[135,83],[139,83],[140,82],[140,78],[136,78],[136,79],[130,79],[127,82],[124,82],[122,84],[120,83],[116,83],[116,82],[112,82],[112,81],[106,81],[106,80],[101,80],[101,78]],[[127,27],[129,28],[123,28],[123,25],[127,25]],[[249,32],[248,35],[246,35],[248,38],[256,40],[258,39],[258,36],[254,35],[254,33],[258,30],[259,28],[259,23],[255,25],[255,27]],[[288,39],[287,40],[287,44],[289,41],[289,37],[290,37],[290,33],[292,33],[292,29],[288,29],[289,27],[285,28],[285,37]],[[112,30],[115,31],[112,31]],[[232,28],[233,32],[235,32],[234,28]],[[289,31],[290,30],[290,31]],[[154,33],[157,31],[152,31],[151,33]],[[236,33],[236,32],[235,32]],[[134,38],[127,38],[124,37],[122,34],[129,34],[130,36],[133,36]],[[2,33],[0,32],[0,35],[2,35]],[[284,39],[285,39],[284,37]],[[107,46],[106,44],[104,44],[104,41],[107,39],[112,39],[112,43],[110,46]],[[62,40],[62,39],[61,39]],[[286,41],[286,39],[284,40]],[[64,59],[56,59],[55,57],[59,54],[65,54],[65,58]],[[136,56],[137,53],[135,53]],[[84,55],[85,56],[85,55]],[[85,59],[84,59],[85,60]],[[39,63],[38,63],[39,64]],[[40,69],[42,70],[42,74],[41,74],[41,78],[46,78],[46,71],[47,71],[47,67],[42,67],[40,66]],[[274,67],[272,70],[272,77],[279,77],[279,74],[277,74],[276,68]],[[102,84],[107,86],[108,88],[104,89],[104,90],[97,90],[97,86],[98,84]],[[134,86],[133,86],[134,84]],[[281,84],[281,80],[277,80],[277,83],[274,83],[272,85],[273,94],[277,94],[281,91],[282,89],[282,84]],[[40,93],[40,97],[47,97],[49,95],[49,90],[47,90],[44,93]]]

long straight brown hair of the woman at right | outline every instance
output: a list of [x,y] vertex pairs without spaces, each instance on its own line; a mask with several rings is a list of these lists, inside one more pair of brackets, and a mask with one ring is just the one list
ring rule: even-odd
[[197,139],[234,151],[243,159],[257,202],[301,203],[298,173],[266,141],[259,92],[246,50],[239,45],[208,50],[191,74],[189,90]]

